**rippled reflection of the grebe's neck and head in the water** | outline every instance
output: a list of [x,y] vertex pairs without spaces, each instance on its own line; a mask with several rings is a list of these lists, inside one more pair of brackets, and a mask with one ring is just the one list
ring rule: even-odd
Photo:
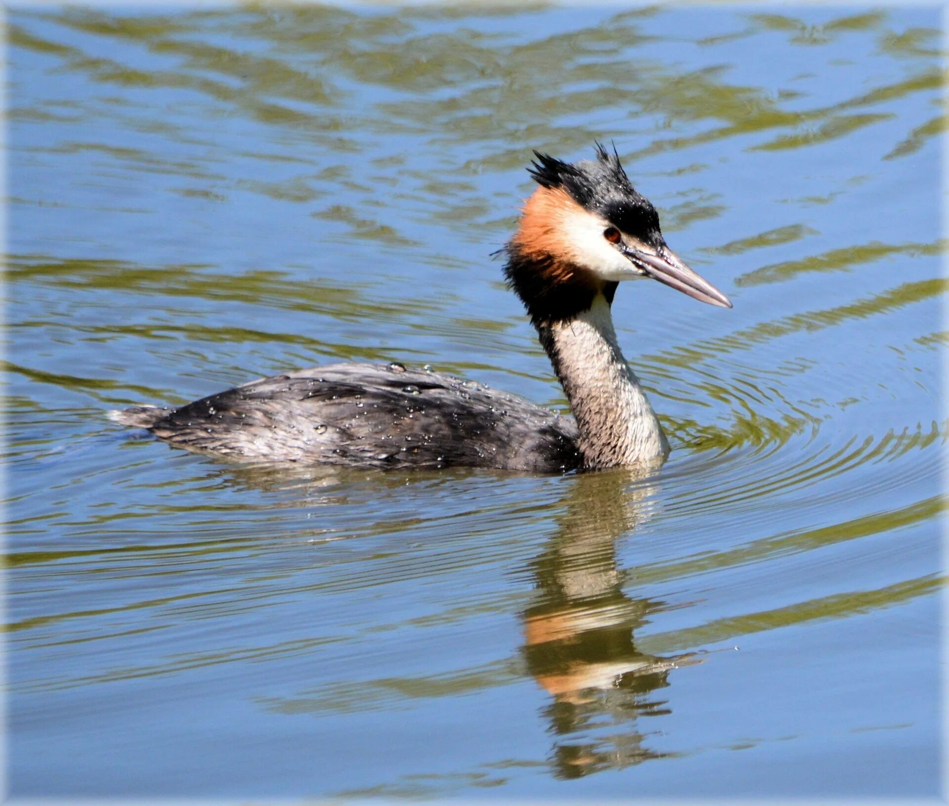
[[[530,674],[552,696],[558,775],[577,778],[661,754],[644,746],[639,717],[668,711],[654,692],[692,654],[658,657],[633,632],[662,602],[623,593],[615,541],[648,517],[644,474],[615,470],[571,479],[572,493],[544,553],[534,561],[539,597],[525,613]],[[632,485],[632,486],[631,486]],[[593,736],[578,736],[595,731]]]

